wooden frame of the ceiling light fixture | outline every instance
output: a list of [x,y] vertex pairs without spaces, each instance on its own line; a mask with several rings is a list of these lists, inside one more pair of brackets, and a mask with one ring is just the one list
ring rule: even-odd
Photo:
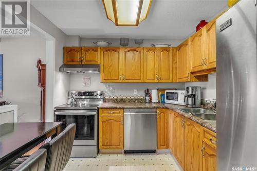
[[117,0],[109,0],[109,1],[112,1],[112,7],[113,7],[113,13],[114,13],[114,19],[115,19],[115,21],[113,21],[113,20],[111,19],[111,17],[108,16],[108,13],[107,13],[107,10],[106,10],[106,6],[105,6],[105,3],[104,3],[104,0],[102,0],[102,2],[103,2],[103,7],[104,7],[105,14],[106,14],[107,18],[108,18],[109,20],[111,20],[116,26],[138,26],[139,23],[142,22],[142,20],[144,20],[144,19],[147,18],[148,13],[149,13],[149,10],[150,10],[150,7],[151,7],[151,4],[152,4],[152,0],[150,0],[149,6],[148,6],[148,10],[147,10],[147,12],[146,12],[146,14],[145,14],[145,17],[140,20],[140,15],[141,15],[141,11],[142,11],[142,6],[143,6],[144,0],[139,0],[139,6],[138,6],[138,10],[137,10],[137,19],[136,19],[136,23],[135,23],[135,24],[119,24],[119,22],[118,22],[117,8],[116,8],[116,1],[117,1]]

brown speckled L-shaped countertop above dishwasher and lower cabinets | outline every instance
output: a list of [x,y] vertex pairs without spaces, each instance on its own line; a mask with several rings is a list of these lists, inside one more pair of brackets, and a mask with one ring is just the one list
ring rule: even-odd
[[206,121],[200,119],[194,115],[188,114],[186,112],[182,112],[177,108],[187,108],[186,106],[182,105],[175,105],[175,104],[167,104],[167,103],[114,103],[114,102],[104,102],[98,106],[98,108],[167,108],[171,109],[186,118],[199,123],[200,125],[206,127],[207,129],[216,133],[216,121]]

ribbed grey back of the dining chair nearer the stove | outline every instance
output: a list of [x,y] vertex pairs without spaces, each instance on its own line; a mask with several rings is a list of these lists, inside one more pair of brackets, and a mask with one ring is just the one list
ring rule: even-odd
[[47,149],[45,171],[64,169],[70,158],[75,133],[76,124],[69,124],[63,132],[40,147]]

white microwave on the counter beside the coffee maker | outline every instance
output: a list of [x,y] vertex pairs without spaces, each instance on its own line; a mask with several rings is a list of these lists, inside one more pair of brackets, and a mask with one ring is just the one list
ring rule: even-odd
[[165,102],[171,104],[186,105],[185,96],[187,95],[186,90],[166,90],[165,91]]

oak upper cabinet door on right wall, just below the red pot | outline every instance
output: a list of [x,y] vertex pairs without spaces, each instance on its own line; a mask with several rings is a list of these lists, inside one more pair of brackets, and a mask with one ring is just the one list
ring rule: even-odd
[[191,72],[202,71],[205,69],[205,29],[200,29],[190,38],[190,60]]

